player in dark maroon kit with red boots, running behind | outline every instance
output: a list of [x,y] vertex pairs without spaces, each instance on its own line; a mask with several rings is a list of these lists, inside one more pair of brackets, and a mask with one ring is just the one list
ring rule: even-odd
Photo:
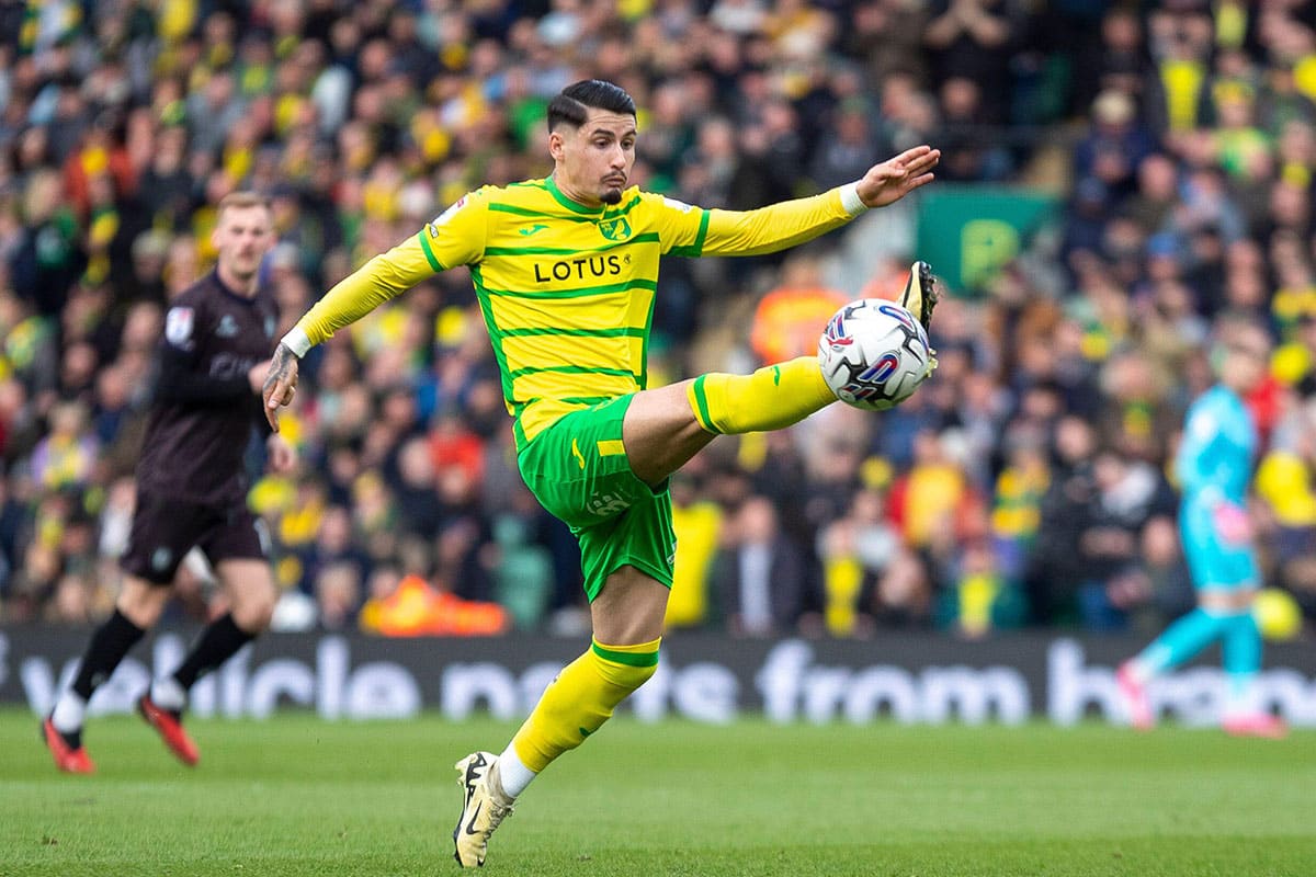
[[[246,505],[242,464],[253,426],[267,431],[258,393],[278,329],[274,296],[259,281],[261,260],[274,245],[268,202],[251,192],[225,196],[211,242],[218,254],[215,271],[174,298],[164,318],[114,613],[92,632],[78,676],[41,726],[55,767],[68,773],[95,770],[82,740],[87,702],[159,621],[188,551],[201,548],[215,565],[229,611],[137,701],[184,764],[199,757],[183,730],[188,690],[259,635],[274,611],[274,576],[261,525]],[[293,465],[282,438],[268,434],[266,447],[272,469]]]

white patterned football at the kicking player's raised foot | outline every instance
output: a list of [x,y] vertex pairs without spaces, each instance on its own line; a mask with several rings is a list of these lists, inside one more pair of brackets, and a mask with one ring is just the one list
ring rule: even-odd
[[851,301],[819,338],[819,366],[828,387],[842,402],[870,412],[909,398],[934,362],[923,325],[883,298]]

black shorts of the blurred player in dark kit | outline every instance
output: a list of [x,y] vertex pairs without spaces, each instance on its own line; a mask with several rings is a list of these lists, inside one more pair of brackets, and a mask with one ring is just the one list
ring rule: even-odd
[[138,492],[128,550],[118,564],[153,585],[171,585],[193,546],[212,564],[242,557],[265,560],[263,526],[245,504],[216,508]]

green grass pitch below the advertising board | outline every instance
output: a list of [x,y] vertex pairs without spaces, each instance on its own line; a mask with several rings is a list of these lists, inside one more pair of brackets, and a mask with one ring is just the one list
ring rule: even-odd
[[[195,769],[93,719],[95,777],[0,711],[0,876],[455,874],[451,764],[492,721],[195,721]],[[1316,873],[1316,734],[704,727],[619,718],[524,795],[482,873]]]

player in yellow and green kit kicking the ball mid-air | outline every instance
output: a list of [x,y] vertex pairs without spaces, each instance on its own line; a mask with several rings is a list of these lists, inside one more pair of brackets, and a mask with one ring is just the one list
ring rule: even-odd
[[[278,430],[313,344],[438,271],[470,267],[515,418],[517,465],[580,542],[594,642],[501,755],[458,763],[465,801],[453,840],[463,866],[484,864],[490,835],[536,774],[653,676],[675,550],[667,479],[716,435],[782,429],[836,401],[813,356],[647,389],[659,256],[803,243],[932,181],[941,156],[919,146],[822,195],[705,210],[626,188],[637,129],[621,88],[575,83],[547,117],[551,176],[471,192],[371,259],[283,338],[265,384]],[[911,272],[904,304],[926,323],[926,264]]]

